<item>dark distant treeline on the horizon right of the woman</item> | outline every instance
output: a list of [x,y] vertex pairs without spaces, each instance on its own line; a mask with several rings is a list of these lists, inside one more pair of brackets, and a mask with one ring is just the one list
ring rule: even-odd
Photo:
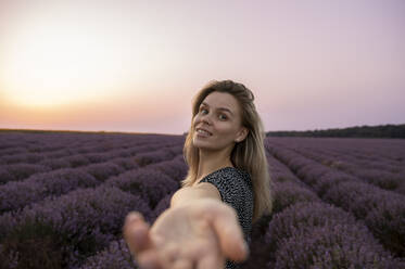
[[404,125],[355,126],[326,130],[268,131],[267,137],[405,138]]

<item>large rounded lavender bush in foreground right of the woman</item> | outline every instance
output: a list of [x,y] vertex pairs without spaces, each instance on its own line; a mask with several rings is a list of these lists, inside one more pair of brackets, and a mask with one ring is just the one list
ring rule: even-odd
[[269,268],[387,268],[398,264],[366,226],[324,203],[296,203],[276,214],[265,235]]

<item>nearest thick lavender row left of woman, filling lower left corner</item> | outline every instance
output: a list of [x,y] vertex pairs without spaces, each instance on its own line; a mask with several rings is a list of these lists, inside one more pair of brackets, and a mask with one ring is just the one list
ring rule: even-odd
[[152,221],[156,202],[178,188],[186,171],[181,154],[157,162],[110,177],[96,189],[48,196],[1,215],[0,268],[77,268],[122,238],[128,212],[142,212]]

